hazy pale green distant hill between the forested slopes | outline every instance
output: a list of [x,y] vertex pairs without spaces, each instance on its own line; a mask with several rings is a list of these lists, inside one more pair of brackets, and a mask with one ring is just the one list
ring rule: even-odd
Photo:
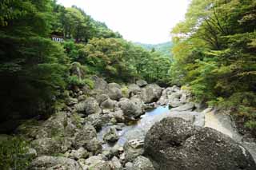
[[156,51],[158,51],[164,55],[167,55],[167,56],[171,56],[170,50],[173,46],[172,42],[164,42],[164,43],[155,44],[155,45],[154,44],[142,44],[140,42],[135,42],[134,44],[140,45],[140,46],[142,46],[142,48],[148,49],[148,50],[155,49]]

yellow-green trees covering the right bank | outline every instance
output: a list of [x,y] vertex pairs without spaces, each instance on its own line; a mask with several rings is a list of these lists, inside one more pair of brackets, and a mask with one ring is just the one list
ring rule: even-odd
[[194,0],[172,30],[174,84],[256,128],[256,2]]

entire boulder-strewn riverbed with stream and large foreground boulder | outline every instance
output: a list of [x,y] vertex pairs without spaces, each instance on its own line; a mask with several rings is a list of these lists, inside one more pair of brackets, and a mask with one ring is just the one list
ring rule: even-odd
[[34,156],[29,169],[256,168],[255,143],[227,116],[201,111],[186,90],[99,77],[94,84],[71,91],[66,109],[48,120],[18,127]]

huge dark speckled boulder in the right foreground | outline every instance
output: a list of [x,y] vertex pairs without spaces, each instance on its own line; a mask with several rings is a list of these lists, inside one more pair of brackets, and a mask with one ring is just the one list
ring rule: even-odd
[[229,136],[182,118],[167,117],[156,123],[146,133],[144,148],[154,168],[161,170],[256,169],[246,148]]

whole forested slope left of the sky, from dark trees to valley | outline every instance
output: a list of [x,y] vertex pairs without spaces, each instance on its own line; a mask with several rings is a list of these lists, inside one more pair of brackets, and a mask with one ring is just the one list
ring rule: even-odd
[[76,6],[52,0],[3,0],[0,6],[1,121],[54,113],[66,89],[92,87],[94,74],[121,82],[170,80],[170,58],[126,42]]

